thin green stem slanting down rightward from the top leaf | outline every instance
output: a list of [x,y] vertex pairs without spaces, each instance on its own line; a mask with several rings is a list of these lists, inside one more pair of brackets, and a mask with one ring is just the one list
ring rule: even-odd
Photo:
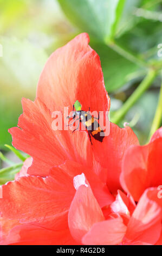
[[107,45],[109,47],[111,47],[115,52],[118,52],[121,56],[123,56],[124,58],[128,59],[129,61],[131,61],[131,62],[141,66],[142,68],[148,68],[146,62],[144,62],[142,59],[140,59],[137,56],[135,56],[135,54],[127,51],[125,48],[123,48],[122,46],[120,46],[116,42],[109,41],[107,43]]

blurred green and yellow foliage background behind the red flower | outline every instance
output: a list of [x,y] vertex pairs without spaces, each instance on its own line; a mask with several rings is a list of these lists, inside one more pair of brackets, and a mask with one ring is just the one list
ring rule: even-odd
[[[151,87],[118,122],[128,122],[147,141],[161,85],[162,1],[0,0],[0,150],[11,145],[21,99],[34,100],[38,77],[50,54],[75,35],[88,32],[99,54],[111,115],[138,87],[147,65],[158,66]],[[115,43],[114,43],[115,42]],[[162,53],[162,52],[161,52]],[[7,153],[8,154],[8,153]],[[1,167],[1,166],[0,166]]]

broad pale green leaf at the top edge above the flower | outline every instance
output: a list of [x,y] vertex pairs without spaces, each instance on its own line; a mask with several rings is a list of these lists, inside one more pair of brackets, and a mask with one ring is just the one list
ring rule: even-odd
[[68,19],[101,40],[113,38],[125,0],[58,0]]

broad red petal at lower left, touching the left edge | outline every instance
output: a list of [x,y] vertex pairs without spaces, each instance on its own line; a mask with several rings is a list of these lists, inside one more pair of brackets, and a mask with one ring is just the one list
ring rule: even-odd
[[66,213],[74,196],[75,191],[66,188],[65,178],[64,185],[56,183],[52,176],[23,176],[3,185],[3,198],[0,200],[2,217],[18,219],[22,223],[35,220],[39,223],[42,218],[44,221],[51,218],[54,222],[56,214]]

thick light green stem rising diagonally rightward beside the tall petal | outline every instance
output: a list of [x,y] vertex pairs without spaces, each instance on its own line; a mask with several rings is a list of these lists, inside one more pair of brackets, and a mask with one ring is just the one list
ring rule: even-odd
[[133,92],[133,94],[127,99],[127,101],[122,105],[122,107],[114,113],[111,121],[113,123],[119,123],[119,121],[125,116],[128,110],[134,105],[134,103],[141,97],[141,95],[151,86],[152,81],[157,75],[157,71],[150,69],[144,78],[144,80],[139,84],[138,88]]

